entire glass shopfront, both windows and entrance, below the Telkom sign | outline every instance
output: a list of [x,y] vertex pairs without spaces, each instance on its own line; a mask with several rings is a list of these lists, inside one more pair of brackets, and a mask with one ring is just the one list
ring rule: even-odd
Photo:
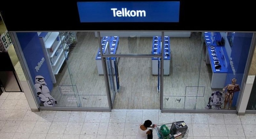
[[17,33],[40,106],[236,110],[253,33],[134,33]]

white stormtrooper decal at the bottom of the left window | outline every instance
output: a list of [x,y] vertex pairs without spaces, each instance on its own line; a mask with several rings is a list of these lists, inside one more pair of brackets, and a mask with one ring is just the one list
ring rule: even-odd
[[46,86],[46,82],[43,76],[36,76],[35,79],[35,88],[37,92],[37,97],[40,98],[43,106],[55,106],[58,104],[57,101],[50,95],[50,91]]

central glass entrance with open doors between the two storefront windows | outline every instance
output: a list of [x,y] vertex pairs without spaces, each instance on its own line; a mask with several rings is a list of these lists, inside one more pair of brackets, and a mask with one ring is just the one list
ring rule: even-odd
[[112,108],[160,109],[161,32],[102,31],[100,36]]

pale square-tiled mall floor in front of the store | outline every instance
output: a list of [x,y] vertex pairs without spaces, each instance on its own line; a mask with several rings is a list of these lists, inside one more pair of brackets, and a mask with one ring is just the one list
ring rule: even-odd
[[[22,92],[0,96],[0,139],[135,139],[138,124],[185,121],[188,139],[256,139],[255,114],[112,112],[31,112]],[[153,132],[157,139],[156,131]]]

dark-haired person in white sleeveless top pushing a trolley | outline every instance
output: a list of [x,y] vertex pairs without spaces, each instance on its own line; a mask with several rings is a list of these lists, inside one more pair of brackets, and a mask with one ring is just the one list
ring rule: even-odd
[[[146,120],[143,124],[140,124],[137,131],[136,139],[153,139],[152,129],[157,125],[153,124],[150,120]],[[152,129],[148,129],[151,127]]]

